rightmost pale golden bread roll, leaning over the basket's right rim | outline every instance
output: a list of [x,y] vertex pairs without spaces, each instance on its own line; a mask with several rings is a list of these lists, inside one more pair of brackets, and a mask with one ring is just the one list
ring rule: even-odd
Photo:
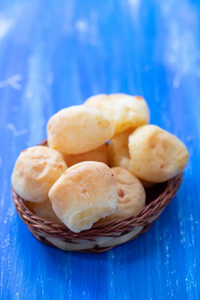
[[186,146],[156,125],[137,128],[128,137],[129,170],[144,180],[164,182],[181,173],[188,161]]

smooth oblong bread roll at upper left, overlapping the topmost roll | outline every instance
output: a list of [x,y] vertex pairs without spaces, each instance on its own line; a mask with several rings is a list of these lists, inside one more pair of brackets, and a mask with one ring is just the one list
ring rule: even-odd
[[91,151],[113,136],[108,117],[86,105],[70,106],[52,115],[47,123],[47,141],[63,154]]

